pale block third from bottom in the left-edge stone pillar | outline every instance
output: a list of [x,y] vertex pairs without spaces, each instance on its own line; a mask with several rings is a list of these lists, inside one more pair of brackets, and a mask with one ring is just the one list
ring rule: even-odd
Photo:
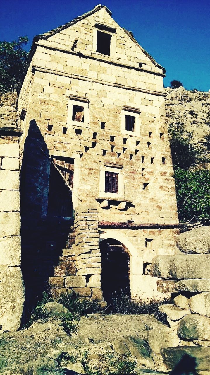
[[19,236],[20,228],[19,212],[0,212],[0,236]]

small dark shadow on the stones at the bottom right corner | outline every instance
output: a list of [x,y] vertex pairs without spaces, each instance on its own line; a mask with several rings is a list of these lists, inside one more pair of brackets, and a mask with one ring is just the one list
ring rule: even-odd
[[195,357],[191,357],[188,354],[184,354],[182,359],[176,365],[173,371],[170,371],[170,375],[198,375],[197,361]]

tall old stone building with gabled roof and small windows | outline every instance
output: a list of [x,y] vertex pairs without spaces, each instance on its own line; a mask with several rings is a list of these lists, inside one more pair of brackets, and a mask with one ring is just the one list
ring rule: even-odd
[[8,227],[21,214],[21,232],[19,221],[0,236],[10,253],[21,233],[27,301],[48,279],[55,294],[73,289],[102,307],[121,289],[160,297],[152,258],[178,251],[165,70],[111,15],[98,5],[34,37],[18,87],[19,134],[1,133],[5,178],[5,142],[19,144],[21,209],[5,211]]

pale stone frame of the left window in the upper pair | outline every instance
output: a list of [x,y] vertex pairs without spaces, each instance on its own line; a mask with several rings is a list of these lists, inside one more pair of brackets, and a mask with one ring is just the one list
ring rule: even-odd
[[[84,115],[82,121],[74,121],[72,120],[73,116],[73,105],[77,107],[84,108]],[[87,102],[83,102],[76,99],[69,99],[68,100],[68,108],[67,108],[67,125],[79,126],[79,127],[88,127],[89,128],[89,104]]]

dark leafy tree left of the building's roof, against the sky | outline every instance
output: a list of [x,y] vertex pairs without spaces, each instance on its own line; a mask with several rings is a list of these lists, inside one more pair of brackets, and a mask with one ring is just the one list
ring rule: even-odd
[[29,41],[27,36],[19,36],[13,42],[0,42],[0,92],[16,89],[18,80],[24,71],[28,52],[23,45]]

